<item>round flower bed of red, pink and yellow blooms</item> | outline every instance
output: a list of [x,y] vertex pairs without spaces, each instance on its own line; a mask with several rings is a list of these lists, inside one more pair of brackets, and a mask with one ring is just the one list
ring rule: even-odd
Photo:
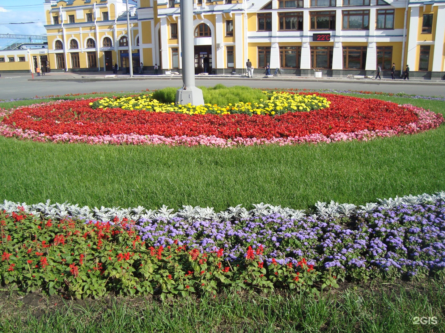
[[[320,94],[319,98],[323,99],[318,101],[322,105],[314,106],[313,94],[302,97],[298,103],[289,102],[291,94],[285,95],[288,99],[275,98],[273,103],[267,104],[198,108],[164,105],[158,110],[166,112],[143,110],[150,102],[139,103],[134,98],[132,100],[139,103],[134,110],[107,108],[106,105],[128,108],[134,104],[110,102],[109,99],[101,100],[105,108],[96,109],[89,104],[99,103],[99,99],[36,104],[20,107],[5,116],[0,134],[36,141],[233,147],[368,140],[416,133],[443,122],[442,115],[377,99]],[[328,102],[331,102],[330,107],[324,107]],[[157,105],[151,107],[154,109],[159,107]],[[294,112],[287,112],[289,110]],[[224,112],[240,113],[222,115]]]

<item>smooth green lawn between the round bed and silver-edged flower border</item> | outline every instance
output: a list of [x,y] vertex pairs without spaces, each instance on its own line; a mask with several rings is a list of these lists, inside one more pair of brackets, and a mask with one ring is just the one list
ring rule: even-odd
[[[383,99],[383,97],[380,96]],[[435,112],[445,102],[387,97]],[[318,200],[364,204],[445,189],[445,127],[370,142],[292,147],[148,147],[0,138],[0,198],[157,208]]]

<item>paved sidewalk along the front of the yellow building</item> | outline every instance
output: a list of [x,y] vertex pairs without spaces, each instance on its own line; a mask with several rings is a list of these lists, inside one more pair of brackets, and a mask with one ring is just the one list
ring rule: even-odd
[[[21,74],[23,75],[23,74]],[[31,75],[30,75],[31,76]],[[36,76],[34,79],[29,78],[28,81],[45,80],[45,81],[77,81],[77,82],[94,82],[94,81],[128,81],[128,80],[165,80],[176,79],[182,80],[182,75],[129,75],[109,74],[106,72],[52,72],[46,75]],[[322,77],[315,78],[313,76],[295,76],[295,75],[280,75],[280,76],[264,76],[254,75],[253,78],[247,78],[244,75],[195,75],[196,80],[215,80],[215,79],[230,79],[230,80],[255,80],[255,81],[295,81],[295,82],[337,82],[337,83],[367,83],[367,84],[406,84],[406,85],[434,85],[444,86],[445,80],[424,80],[424,79],[348,79],[340,77]]]

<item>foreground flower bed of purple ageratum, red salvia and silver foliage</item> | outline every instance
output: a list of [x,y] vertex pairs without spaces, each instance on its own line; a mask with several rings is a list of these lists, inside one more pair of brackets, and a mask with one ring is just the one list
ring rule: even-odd
[[1,282],[77,297],[165,297],[223,287],[315,292],[338,279],[443,273],[445,192],[316,207],[173,213],[5,201]]

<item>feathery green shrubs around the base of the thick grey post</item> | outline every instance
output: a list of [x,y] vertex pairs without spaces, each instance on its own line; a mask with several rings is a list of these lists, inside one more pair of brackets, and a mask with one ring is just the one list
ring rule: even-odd
[[[217,84],[214,87],[199,87],[202,90],[205,103],[228,105],[239,102],[258,102],[260,99],[267,99],[267,96],[259,89],[252,89],[250,87],[225,87],[222,84]],[[154,91],[153,99],[157,99],[161,103],[174,103],[176,99],[176,90],[178,88],[168,87]]]

